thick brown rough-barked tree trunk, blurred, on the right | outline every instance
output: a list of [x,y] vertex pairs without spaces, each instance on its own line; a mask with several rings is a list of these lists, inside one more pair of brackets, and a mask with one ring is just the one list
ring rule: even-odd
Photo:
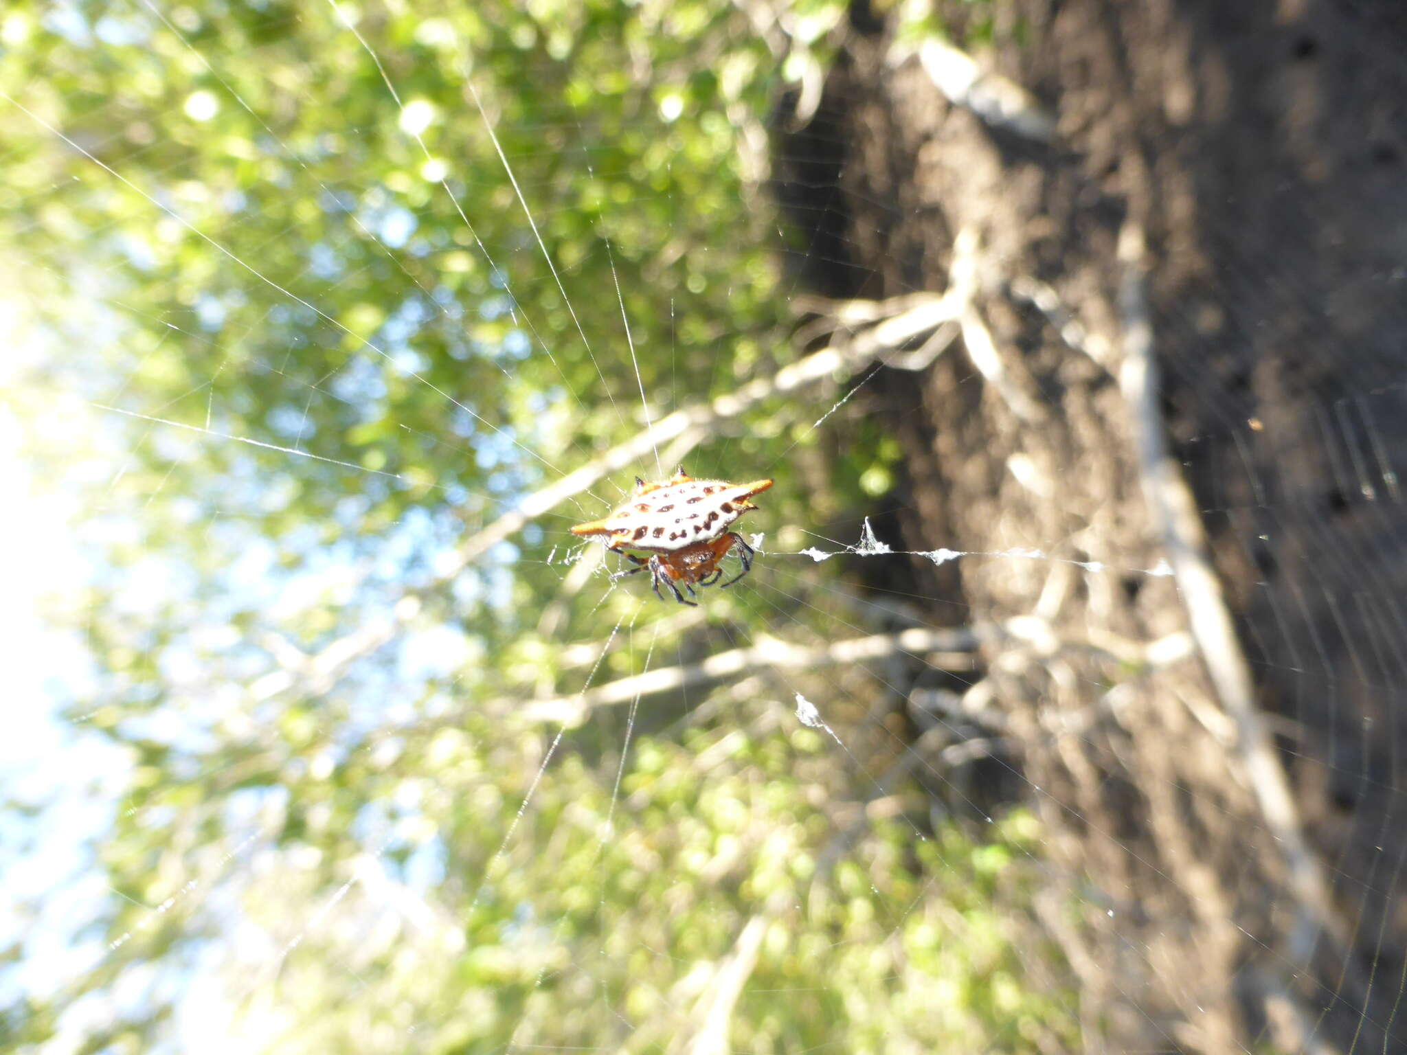
[[[937,14],[961,44],[991,10]],[[794,197],[825,188],[796,212],[826,217],[802,253],[816,290],[943,291],[955,246],[975,267],[964,340],[870,392],[905,449],[905,547],[969,554],[915,558],[912,592],[967,606],[926,618],[1051,630],[993,648],[985,689],[1064,865],[1047,921],[1089,1048],[1407,1045],[1407,7],[1023,0],[986,30],[982,63],[1052,138],[944,94],[895,17],[857,4],[779,155]],[[1120,385],[1135,235],[1161,421]],[[1166,526],[1141,429],[1200,509],[1287,821],[1214,670],[1086,647],[1188,627],[1186,582],[1151,574]]]

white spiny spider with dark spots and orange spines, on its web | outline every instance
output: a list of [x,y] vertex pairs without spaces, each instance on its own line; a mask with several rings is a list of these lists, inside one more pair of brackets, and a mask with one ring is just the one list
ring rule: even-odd
[[[734,546],[743,570],[723,585],[733,585],[753,570],[753,547],[729,528],[749,509],[757,508],[749,499],[770,488],[771,480],[753,480],[747,484],[695,480],[680,466],[680,471],[670,480],[647,484],[636,477],[635,484],[635,494],[609,516],[578,523],[571,529],[573,535],[584,537],[605,536],[608,550],[635,561],[636,567],[618,571],[611,578],[623,578],[649,568],[657,598],[664,599],[660,592],[663,582],[674,591],[674,599],[681,605],[696,605],[696,601],[685,599],[680,585],[692,598],[698,596],[694,587],[718,582],[723,577],[718,564]],[[651,556],[637,557],[626,553],[626,549]]]

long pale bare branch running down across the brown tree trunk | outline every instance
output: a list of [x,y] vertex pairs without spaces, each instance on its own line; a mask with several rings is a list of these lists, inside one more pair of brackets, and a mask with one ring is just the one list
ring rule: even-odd
[[1121,232],[1119,256],[1124,264],[1120,290],[1124,354],[1119,383],[1133,416],[1138,474],[1154,525],[1162,533],[1189,629],[1213,689],[1235,722],[1237,751],[1247,779],[1290,874],[1290,890],[1299,903],[1290,961],[1309,962],[1320,934],[1328,934],[1337,951],[1344,954],[1351,945],[1348,930],[1334,912],[1328,882],[1304,838],[1289,779],[1256,708],[1251,668],[1241,651],[1221,584],[1206,556],[1197,502],[1164,440],[1144,235],[1137,224],[1128,224]]

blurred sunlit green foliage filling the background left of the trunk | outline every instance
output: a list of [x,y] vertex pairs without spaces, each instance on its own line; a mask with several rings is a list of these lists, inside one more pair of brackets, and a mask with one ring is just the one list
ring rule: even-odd
[[[870,789],[756,684],[561,734],[519,713],[848,627],[823,582],[760,567],[678,623],[573,580],[567,526],[629,473],[443,573],[646,416],[794,357],[747,142],[839,11],[801,8],[781,60],[704,1],[4,15],[20,412],[86,504],[96,674],[68,715],[118,786],[89,872],[113,896],[72,935],[91,962],[17,999],[3,1047],[663,1051],[758,914],[734,1048],[1069,1040],[1064,996],[1024,982],[1055,958],[1003,909],[1027,819],[976,844],[915,796],[832,852]],[[775,475],[753,529],[826,530],[895,452],[860,423],[837,453],[815,409],[770,401],[688,464]],[[805,494],[827,456],[832,492]],[[380,647],[338,665],[359,636]],[[846,682],[858,720],[872,685]]]

